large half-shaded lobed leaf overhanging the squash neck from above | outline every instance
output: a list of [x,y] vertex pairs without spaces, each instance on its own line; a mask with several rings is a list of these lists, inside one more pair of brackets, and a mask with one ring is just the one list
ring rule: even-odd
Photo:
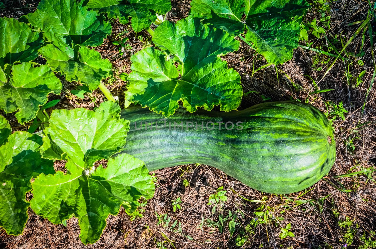
[[209,111],[215,105],[223,111],[238,107],[240,76],[218,57],[239,48],[227,32],[190,16],[176,24],[163,22],[155,29],[153,42],[166,52],[146,48],[130,58],[126,107],[139,102],[167,117],[174,114],[179,100],[190,112],[200,106]]

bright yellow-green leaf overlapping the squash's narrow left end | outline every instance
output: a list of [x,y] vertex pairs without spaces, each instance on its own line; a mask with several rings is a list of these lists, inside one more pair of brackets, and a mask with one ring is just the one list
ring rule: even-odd
[[[154,194],[142,161],[127,154],[110,158],[123,149],[129,130],[129,121],[119,119],[119,112],[120,107],[112,102],[102,103],[96,111],[54,110],[45,129],[48,139],[65,153],[67,173],[35,179],[32,209],[55,224],[73,214],[79,218],[85,244],[100,238],[106,218],[116,215],[121,205],[131,214],[141,196],[150,199]],[[51,149],[50,144],[44,143],[42,150]],[[94,162],[101,159],[109,159],[107,168],[95,169]]]

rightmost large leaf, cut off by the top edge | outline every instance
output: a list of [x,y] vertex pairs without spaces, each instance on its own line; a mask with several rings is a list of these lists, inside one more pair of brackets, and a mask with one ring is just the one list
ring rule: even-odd
[[273,64],[292,58],[300,34],[300,23],[293,17],[309,8],[306,0],[193,0],[191,6],[194,16],[232,35],[246,28],[246,40]]

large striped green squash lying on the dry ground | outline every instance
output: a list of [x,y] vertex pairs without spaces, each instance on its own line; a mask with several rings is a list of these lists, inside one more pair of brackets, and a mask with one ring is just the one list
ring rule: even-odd
[[[202,163],[256,190],[287,194],[311,187],[335,161],[332,126],[322,112],[306,103],[268,102],[242,111],[194,114],[178,109],[166,118],[166,125],[161,115],[141,106],[124,109],[121,117],[130,121],[124,152],[143,160],[149,170]],[[143,129],[137,130],[141,121]],[[158,130],[155,125],[145,130],[145,121],[158,121]],[[191,121],[194,127],[174,130],[174,121]],[[198,125],[203,121],[203,130],[196,129],[196,121]],[[218,124],[208,130],[208,121],[224,123],[221,130]],[[227,121],[233,122],[233,129],[224,128]],[[238,121],[243,122],[241,130],[236,129]]]

